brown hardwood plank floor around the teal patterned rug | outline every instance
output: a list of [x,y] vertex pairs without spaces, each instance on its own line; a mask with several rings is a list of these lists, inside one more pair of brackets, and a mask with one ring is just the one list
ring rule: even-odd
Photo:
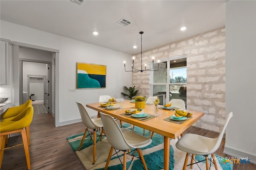
[[[54,117],[51,114],[34,115],[30,125],[30,161],[31,170],[84,170],[84,166],[68,144],[66,137],[84,133],[85,127],[80,123],[54,127]],[[196,133],[207,137],[218,137],[218,133],[190,127],[186,133]],[[8,146],[22,141],[20,136],[11,137]],[[225,139],[215,152],[223,153]],[[7,149],[4,152],[2,170],[26,170],[26,158],[23,146]],[[214,169],[214,167],[212,167]],[[255,170],[255,164],[234,164],[233,170]]]

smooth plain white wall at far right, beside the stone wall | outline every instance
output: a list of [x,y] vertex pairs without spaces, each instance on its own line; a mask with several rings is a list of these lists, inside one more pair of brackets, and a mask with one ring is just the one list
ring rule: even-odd
[[224,152],[256,163],[256,1],[226,2],[226,129]]

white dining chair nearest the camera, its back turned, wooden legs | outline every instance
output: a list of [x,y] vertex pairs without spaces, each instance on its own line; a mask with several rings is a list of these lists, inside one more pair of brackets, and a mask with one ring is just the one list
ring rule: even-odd
[[[126,170],[126,154],[130,155],[131,149],[135,149],[138,152],[144,169],[147,170],[148,168],[140,148],[150,145],[152,140],[129,129],[120,128],[116,121],[113,119],[113,117],[111,117],[110,115],[100,113],[100,117],[102,119],[106,138],[111,145],[105,170],[107,170],[108,168],[108,164],[110,162],[110,158],[114,149],[122,150],[124,152],[123,170]],[[134,155],[132,159],[133,158]]]

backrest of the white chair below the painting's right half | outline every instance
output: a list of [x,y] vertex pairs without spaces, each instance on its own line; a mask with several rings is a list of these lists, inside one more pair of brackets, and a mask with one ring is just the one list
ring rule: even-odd
[[76,102],[76,104],[78,106],[84,126],[90,128],[90,129],[97,129],[98,127],[96,127],[96,125],[93,123],[93,121],[92,121],[90,115],[88,114],[88,112],[86,111],[84,105],[82,105],[81,103],[78,103],[78,102]]

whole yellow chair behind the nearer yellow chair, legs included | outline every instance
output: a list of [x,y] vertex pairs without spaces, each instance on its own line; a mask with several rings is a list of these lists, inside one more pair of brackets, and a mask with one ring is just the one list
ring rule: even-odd
[[[20,106],[15,106],[15,107],[9,107],[2,116],[2,122],[4,121],[17,121],[20,119],[19,115],[26,109],[26,107],[32,106],[32,100],[28,100],[26,103],[20,105]],[[30,145],[30,133],[29,133],[29,126],[25,128],[26,129],[26,134],[28,138],[28,146]],[[8,142],[8,138],[6,138],[6,143]]]

